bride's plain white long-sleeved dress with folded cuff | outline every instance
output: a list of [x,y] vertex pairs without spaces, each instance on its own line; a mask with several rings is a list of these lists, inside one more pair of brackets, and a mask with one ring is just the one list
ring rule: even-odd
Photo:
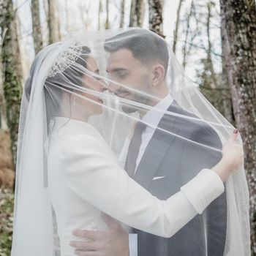
[[160,201],[118,167],[99,132],[82,121],[56,117],[49,141],[48,186],[59,227],[61,256],[74,251],[69,246],[75,239],[72,230],[108,229],[100,211],[131,227],[170,237],[224,192],[219,176],[202,170],[181,188],[182,192]]

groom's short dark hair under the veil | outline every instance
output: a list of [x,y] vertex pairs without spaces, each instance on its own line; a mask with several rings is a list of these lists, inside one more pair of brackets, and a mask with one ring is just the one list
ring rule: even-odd
[[128,49],[143,64],[159,61],[167,72],[169,53],[165,39],[146,29],[132,29],[105,39],[104,48],[109,53]]

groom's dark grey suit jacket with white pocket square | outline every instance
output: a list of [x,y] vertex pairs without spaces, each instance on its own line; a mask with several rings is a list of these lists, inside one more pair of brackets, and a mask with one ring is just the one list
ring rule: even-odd
[[[175,101],[168,110],[193,116]],[[203,122],[165,115],[159,122],[159,127],[197,143],[222,148],[217,133]],[[151,194],[165,200],[178,192],[181,186],[201,169],[213,167],[221,157],[217,151],[212,151],[209,157],[209,150],[206,148],[156,130],[138,165],[135,181]],[[155,176],[165,176],[165,178],[153,180]],[[208,219],[207,238],[202,232],[204,214]],[[222,256],[226,228],[227,200],[226,194],[223,193],[206,208],[203,214],[197,215],[171,238],[162,238],[135,229],[133,233],[138,233],[139,256],[206,256],[206,252],[208,256]]]

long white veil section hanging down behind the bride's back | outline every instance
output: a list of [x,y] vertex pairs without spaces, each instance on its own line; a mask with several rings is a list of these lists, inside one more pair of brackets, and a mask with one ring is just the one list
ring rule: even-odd
[[47,127],[42,90],[45,76],[60,51],[60,44],[56,43],[38,53],[23,91],[12,255],[53,255],[53,218],[44,178]]

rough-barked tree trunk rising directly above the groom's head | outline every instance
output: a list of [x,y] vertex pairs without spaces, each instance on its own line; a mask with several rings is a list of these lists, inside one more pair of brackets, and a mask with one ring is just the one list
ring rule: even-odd
[[164,37],[162,31],[162,0],[148,0],[149,29]]

